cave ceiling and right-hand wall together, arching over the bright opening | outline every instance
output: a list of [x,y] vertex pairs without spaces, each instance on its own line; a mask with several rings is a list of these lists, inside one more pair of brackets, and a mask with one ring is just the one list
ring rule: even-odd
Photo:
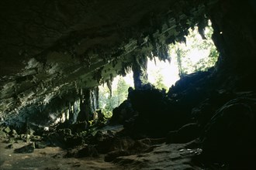
[[125,74],[133,56],[168,59],[167,45],[185,42],[190,27],[202,33],[208,19],[220,51],[219,86],[256,87],[253,1],[12,0],[0,9],[1,124],[40,116],[46,121],[33,123],[52,123],[79,90]]

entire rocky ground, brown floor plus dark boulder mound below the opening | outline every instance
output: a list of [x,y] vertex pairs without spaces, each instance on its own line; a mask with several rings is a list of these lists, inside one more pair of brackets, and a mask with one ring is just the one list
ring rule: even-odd
[[[150,86],[130,91],[110,123],[99,127],[78,130],[82,123],[59,126],[41,136],[1,128],[5,141],[1,143],[1,166],[15,169],[9,157],[15,157],[18,164],[26,157],[27,162],[33,158],[62,162],[52,167],[43,164],[48,169],[64,165],[78,169],[251,169],[256,95],[213,89],[207,77],[206,73],[186,77],[194,80],[190,86],[183,87],[186,81],[181,80],[168,93]],[[15,153],[27,145],[34,145],[33,153],[22,157]],[[51,149],[54,154],[47,152]]]

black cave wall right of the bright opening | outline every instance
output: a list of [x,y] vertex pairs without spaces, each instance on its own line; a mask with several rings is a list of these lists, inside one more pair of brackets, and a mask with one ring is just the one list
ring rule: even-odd
[[220,52],[220,79],[227,79],[224,85],[233,90],[255,90],[255,3],[225,0],[209,6],[208,12],[213,23],[213,42]]

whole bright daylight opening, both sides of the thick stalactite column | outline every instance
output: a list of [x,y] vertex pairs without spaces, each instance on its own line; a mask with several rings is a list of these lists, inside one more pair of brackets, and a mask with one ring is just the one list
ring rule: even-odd
[[[197,71],[206,71],[213,67],[219,56],[211,36],[213,28],[205,29],[205,39],[199,35],[197,28],[189,29],[186,42],[170,44],[169,56],[171,62],[160,61],[158,57],[148,59],[148,82],[158,89],[168,90],[182,76]],[[112,110],[126,100],[128,88],[133,87],[133,72],[126,76],[116,76],[112,81],[112,96],[107,84],[99,86],[99,107],[106,117],[112,116]]]

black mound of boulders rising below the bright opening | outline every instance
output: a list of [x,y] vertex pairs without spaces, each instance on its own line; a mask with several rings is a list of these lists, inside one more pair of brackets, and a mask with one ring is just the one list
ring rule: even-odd
[[[123,121],[130,105],[135,114]],[[133,90],[115,121],[121,120],[133,138],[165,137],[172,144],[198,138],[202,155],[194,160],[199,164],[254,169],[255,106],[254,91],[216,88],[211,75],[201,72],[179,80],[167,95],[154,87]]]

